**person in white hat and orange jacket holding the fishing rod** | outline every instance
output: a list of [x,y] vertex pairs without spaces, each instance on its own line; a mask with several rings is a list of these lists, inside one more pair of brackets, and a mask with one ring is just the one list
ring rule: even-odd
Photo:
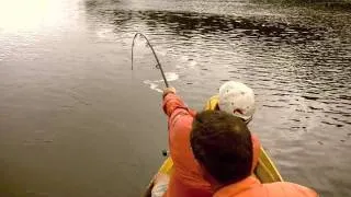
[[[233,97],[233,95],[229,94],[239,94],[235,96],[241,99],[236,100],[236,102],[245,103],[245,101],[249,101],[245,108],[233,108],[237,105],[233,105],[230,102],[224,102],[224,107],[233,112],[234,115],[242,115],[241,118],[249,121],[254,112],[252,90],[246,85],[241,86],[239,92],[237,89],[233,92],[233,86],[230,88],[230,85],[229,88],[224,89],[222,86],[220,89],[225,90],[223,95],[224,97],[226,95],[227,97]],[[174,169],[173,174],[170,177],[166,196],[211,197],[214,190],[212,189],[210,183],[202,176],[200,166],[190,149],[190,132],[195,112],[185,106],[184,102],[176,95],[176,89],[173,88],[169,88],[163,91],[163,111],[168,116],[169,148]],[[257,164],[261,146],[257,137],[252,136],[251,140],[251,149],[253,149],[252,151],[256,152],[253,164],[250,165],[252,172]],[[157,189],[158,188],[155,188],[155,190]]]

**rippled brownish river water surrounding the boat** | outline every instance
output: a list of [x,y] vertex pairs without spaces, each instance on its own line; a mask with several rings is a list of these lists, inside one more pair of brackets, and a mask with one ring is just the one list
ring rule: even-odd
[[1,0],[0,196],[138,196],[167,148],[155,45],[201,109],[249,84],[286,181],[351,193],[350,11],[246,0]]

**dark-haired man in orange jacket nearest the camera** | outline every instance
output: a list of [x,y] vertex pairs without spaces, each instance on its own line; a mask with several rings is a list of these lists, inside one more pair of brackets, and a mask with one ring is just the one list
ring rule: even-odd
[[196,114],[191,148],[214,197],[316,197],[304,186],[276,182],[261,184],[250,176],[251,134],[242,119],[220,111]]

